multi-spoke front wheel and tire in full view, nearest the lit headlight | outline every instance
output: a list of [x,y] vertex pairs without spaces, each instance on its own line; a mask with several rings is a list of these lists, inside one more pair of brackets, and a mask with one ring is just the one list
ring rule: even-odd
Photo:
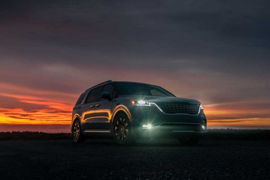
[[119,145],[131,145],[136,142],[136,138],[131,134],[131,125],[125,113],[116,116],[113,122],[113,137]]

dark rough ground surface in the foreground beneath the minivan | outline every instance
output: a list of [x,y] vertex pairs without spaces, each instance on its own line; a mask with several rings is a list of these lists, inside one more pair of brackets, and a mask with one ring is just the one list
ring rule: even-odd
[[0,179],[270,179],[270,141],[0,141]]

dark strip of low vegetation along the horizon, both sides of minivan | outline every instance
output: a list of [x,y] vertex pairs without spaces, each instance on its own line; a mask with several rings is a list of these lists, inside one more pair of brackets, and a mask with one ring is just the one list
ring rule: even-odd
[[[270,130],[264,129],[208,129],[203,139],[216,140],[270,140]],[[0,132],[0,140],[72,139],[71,133],[45,133],[32,131]]]

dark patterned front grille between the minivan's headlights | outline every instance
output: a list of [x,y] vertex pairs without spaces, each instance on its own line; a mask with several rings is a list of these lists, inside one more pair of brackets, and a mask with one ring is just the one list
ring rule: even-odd
[[157,102],[164,113],[167,114],[198,114],[200,104],[186,102]]

